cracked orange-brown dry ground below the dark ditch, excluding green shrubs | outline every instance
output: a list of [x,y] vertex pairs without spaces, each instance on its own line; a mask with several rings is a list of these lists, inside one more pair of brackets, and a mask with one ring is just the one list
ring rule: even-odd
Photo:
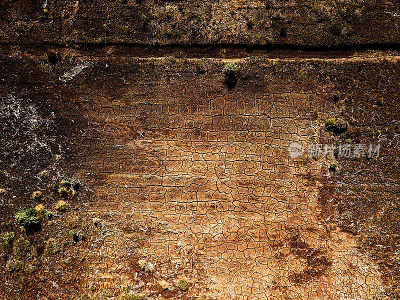
[[[229,61],[240,66],[230,81]],[[1,62],[2,217],[38,203],[53,214],[28,235],[2,224],[14,244],[28,241],[3,254],[3,298],[398,296],[396,52],[222,60],[54,50]],[[330,117],[348,129],[326,131]],[[292,141],[347,138],[380,143],[380,156],[289,156]],[[57,212],[48,185],[72,177],[79,193]]]

